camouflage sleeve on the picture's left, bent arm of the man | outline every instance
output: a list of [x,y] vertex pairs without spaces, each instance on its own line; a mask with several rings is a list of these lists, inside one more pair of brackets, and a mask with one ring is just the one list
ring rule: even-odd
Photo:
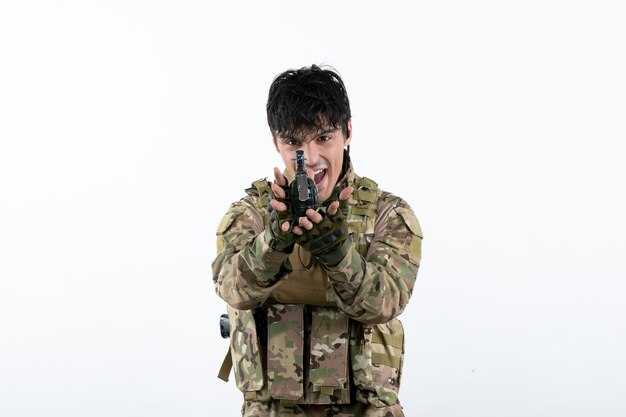
[[215,291],[230,306],[239,310],[260,306],[291,272],[289,254],[271,249],[269,239],[263,212],[246,199],[226,212],[217,231],[218,255],[212,269]]

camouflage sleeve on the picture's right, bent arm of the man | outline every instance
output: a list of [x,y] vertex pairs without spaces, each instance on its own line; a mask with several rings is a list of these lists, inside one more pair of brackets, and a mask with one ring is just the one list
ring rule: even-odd
[[345,244],[352,246],[347,255],[324,265],[339,307],[363,323],[398,316],[413,292],[422,253],[422,231],[409,205],[397,197],[379,205],[366,257],[349,240]]

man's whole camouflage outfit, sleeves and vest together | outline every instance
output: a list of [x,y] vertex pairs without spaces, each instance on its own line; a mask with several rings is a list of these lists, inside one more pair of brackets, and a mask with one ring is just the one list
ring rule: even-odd
[[322,266],[298,244],[269,247],[267,181],[218,227],[217,294],[228,304],[231,357],[244,416],[402,416],[404,332],[422,232],[409,205],[354,174],[352,248]]

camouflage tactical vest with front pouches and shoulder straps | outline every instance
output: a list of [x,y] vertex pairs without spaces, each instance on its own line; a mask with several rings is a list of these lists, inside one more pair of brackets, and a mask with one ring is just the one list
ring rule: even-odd
[[[348,230],[356,250],[366,257],[380,193],[365,177],[356,177],[353,185]],[[256,196],[267,224],[269,183],[255,181],[247,191]],[[352,394],[359,401],[395,404],[404,356],[400,321],[365,325],[350,319],[337,308],[317,260],[311,262],[311,255],[296,244],[289,262],[292,272],[262,308],[228,306],[230,351],[220,378],[228,380],[232,363],[247,400],[347,404],[350,391],[356,390]]]

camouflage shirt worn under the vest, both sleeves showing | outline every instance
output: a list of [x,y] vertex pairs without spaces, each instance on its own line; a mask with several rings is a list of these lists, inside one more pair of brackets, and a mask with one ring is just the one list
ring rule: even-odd
[[[347,183],[356,175],[350,169]],[[355,194],[359,189],[355,191]],[[409,302],[421,259],[422,232],[410,206],[393,194],[378,191],[375,224],[356,215],[359,200],[351,197],[348,223],[361,231],[353,247],[327,268],[338,307],[363,323],[385,323],[397,317]],[[273,250],[264,223],[266,207],[248,195],[231,205],[218,229],[218,249],[212,264],[217,294],[238,309],[263,305],[273,288],[292,271],[288,254]],[[368,247],[362,256],[357,247]]]

